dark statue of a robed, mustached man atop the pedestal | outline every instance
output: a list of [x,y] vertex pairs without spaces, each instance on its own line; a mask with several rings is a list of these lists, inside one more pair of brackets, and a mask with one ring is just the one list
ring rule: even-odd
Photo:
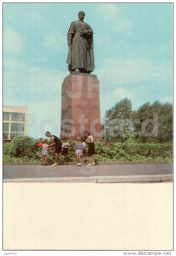
[[94,70],[93,31],[85,23],[85,13],[78,13],[79,20],[73,21],[68,31],[68,69],[72,72],[91,73]]

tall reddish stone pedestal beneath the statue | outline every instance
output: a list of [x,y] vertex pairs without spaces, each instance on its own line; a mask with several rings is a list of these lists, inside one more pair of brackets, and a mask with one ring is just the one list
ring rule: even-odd
[[60,138],[85,137],[85,131],[102,140],[99,80],[96,75],[73,72],[62,83]]

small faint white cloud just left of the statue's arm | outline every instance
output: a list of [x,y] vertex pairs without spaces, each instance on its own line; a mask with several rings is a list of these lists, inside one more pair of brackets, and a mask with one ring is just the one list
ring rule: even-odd
[[43,36],[43,46],[53,50],[62,50],[67,44],[66,38],[57,31],[50,31],[49,34]]

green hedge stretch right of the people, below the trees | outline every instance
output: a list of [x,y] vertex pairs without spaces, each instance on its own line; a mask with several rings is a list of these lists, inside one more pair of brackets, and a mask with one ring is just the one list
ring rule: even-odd
[[172,162],[170,143],[112,143],[97,141],[95,150],[98,161],[166,161]]

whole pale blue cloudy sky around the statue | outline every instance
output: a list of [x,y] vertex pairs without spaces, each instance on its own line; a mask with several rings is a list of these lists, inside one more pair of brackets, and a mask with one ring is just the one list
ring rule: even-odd
[[29,136],[60,134],[67,32],[78,12],[93,29],[101,118],[128,97],[133,110],[172,102],[172,3],[4,3],[3,105],[29,108]]

